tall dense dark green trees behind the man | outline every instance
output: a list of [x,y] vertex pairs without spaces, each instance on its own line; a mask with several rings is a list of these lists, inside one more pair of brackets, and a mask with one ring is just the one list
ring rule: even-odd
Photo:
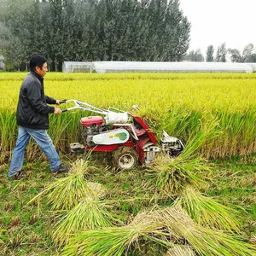
[[190,23],[179,0],[0,0],[0,53],[7,70],[34,53],[62,61],[181,61]]

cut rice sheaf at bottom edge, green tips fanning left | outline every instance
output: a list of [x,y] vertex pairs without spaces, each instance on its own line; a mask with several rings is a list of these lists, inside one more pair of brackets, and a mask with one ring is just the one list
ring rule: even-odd
[[[165,243],[163,226],[154,212],[142,212],[124,227],[109,227],[101,230],[89,230],[76,234],[64,247],[62,255],[123,255],[138,243],[140,238]],[[154,234],[156,237],[151,236]],[[158,237],[162,237],[160,240]]]

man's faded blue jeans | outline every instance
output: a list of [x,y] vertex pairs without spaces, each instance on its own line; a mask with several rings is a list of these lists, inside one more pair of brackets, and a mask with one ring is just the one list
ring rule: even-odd
[[50,163],[51,172],[56,172],[61,166],[59,154],[56,152],[55,146],[53,145],[52,140],[50,139],[46,130],[36,130],[19,126],[18,139],[8,172],[9,177],[13,177],[15,174],[21,171],[25,148],[29,143],[30,137],[32,137],[36,143],[38,143],[44,154],[46,154]]

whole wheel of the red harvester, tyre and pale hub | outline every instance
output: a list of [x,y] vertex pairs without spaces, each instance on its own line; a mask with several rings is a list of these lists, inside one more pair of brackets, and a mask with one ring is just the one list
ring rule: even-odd
[[113,152],[113,166],[119,170],[131,170],[138,164],[138,155],[133,148],[122,147]]

